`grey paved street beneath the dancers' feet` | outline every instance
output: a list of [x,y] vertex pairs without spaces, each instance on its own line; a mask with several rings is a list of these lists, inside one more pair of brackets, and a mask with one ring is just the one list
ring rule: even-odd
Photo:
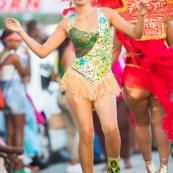
[[[159,158],[157,152],[153,152],[153,160],[158,169],[159,167]],[[132,169],[123,169],[123,161],[120,161],[121,173],[146,173],[145,165],[142,159],[141,154],[135,154],[131,158],[133,168]],[[39,171],[38,173],[66,173],[67,163],[54,164],[49,168]],[[104,164],[99,164],[94,166],[94,173],[106,173],[102,172],[101,169],[104,167]],[[74,172],[75,173],[75,172]],[[169,171],[168,173],[173,173],[173,158],[169,159]]]

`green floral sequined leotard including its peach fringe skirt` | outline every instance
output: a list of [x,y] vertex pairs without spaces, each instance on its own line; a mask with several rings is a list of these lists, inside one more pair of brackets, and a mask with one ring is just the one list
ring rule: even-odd
[[106,94],[120,93],[111,72],[113,39],[101,9],[97,9],[98,28],[93,32],[75,27],[74,16],[69,19],[69,35],[76,57],[61,79],[61,88],[77,97],[96,100]]

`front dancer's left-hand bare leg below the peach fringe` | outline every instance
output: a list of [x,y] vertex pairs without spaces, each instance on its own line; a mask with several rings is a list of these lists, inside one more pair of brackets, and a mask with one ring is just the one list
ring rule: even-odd
[[92,120],[92,102],[81,99],[70,92],[66,97],[72,112],[74,113],[79,129],[79,160],[83,173],[93,173],[93,139],[94,129]]

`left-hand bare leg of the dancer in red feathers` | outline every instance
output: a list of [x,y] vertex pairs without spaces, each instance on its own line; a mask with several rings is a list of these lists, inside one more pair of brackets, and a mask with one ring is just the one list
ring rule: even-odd
[[136,123],[136,137],[145,162],[152,160],[151,127],[149,115],[150,93],[144,89],[123,88],[124,100],[132,111]]

